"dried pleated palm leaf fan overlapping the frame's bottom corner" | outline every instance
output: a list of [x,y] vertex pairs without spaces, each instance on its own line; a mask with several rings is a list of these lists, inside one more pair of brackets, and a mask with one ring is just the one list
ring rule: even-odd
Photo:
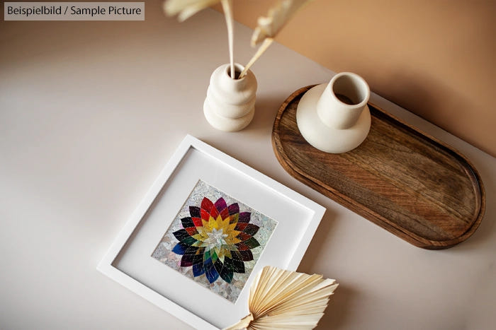
[[249,290],[250,314],[224,330],[313,329],[337,285],[322,275],[265,266]]

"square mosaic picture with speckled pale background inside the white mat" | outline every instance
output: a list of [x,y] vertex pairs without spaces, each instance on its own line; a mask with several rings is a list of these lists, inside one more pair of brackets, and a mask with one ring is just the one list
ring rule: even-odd
[[200,180],[152,257],[235,302],[276,224]]

